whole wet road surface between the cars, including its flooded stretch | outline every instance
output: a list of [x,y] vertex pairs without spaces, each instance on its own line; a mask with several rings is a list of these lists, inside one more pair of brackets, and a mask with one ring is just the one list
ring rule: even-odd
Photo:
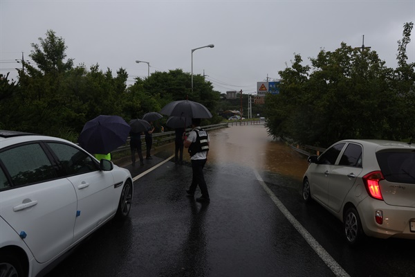
[[138,178],[129,220],[103,226],[48,277],[414,276],[414,243],[376,240],[351,249],[338,220],[303,204],[305,157],[273,141],[263,125],[214,130],[210,138],[210,204],[185,193],[188,154],[178,166],[164,162],[174,145],[156,148],[145,166],[121,164]]

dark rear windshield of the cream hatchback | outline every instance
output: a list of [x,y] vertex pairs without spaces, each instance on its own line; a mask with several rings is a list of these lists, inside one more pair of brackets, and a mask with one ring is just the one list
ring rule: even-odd
[[415,184],[415,152],[378,152],[376,159],[387,181]]

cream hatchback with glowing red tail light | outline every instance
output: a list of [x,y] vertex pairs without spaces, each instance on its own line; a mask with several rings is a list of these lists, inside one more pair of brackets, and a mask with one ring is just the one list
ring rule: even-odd
[[349,244],[365,235],[415,240],[415,145],[345,140],[308,161],[302,197],[338,217]]

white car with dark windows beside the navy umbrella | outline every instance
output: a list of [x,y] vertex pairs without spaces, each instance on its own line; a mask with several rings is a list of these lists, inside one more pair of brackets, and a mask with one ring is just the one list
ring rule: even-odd
[[45,274],[113,217],[129,215],[130,172],[74,143],[0,130],[0,276]]

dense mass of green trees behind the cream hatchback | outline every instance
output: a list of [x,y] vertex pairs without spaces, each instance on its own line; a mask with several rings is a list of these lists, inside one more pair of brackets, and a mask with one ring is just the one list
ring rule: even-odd
[[[268,132],[299,143],[329,146],[340,139],[395,139],[414,133],[414,64],[407,64],[406,45],[412,24],[405,24],[394,71],[376,51],[342,43],[320,51],[302,66],[279,71],[280,93],[266,96]],[[404,132],[406,130],[406,133]]]

